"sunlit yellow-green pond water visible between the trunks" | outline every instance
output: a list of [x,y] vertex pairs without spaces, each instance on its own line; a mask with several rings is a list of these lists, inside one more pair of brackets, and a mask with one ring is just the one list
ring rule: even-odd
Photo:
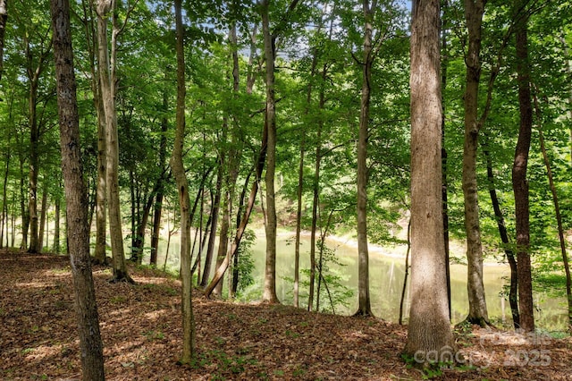
[[[265,268],[265,236],[257,234],[257,241],[253,246],[255,270],[254,278],[258,290],[262,289]],[[309,268],[309,236],[302,237],[300,246],[300,269]],[[293,234],[280,234],[277,239],[276,255],[276,292],[281,301],[292,301],[291,279],[294,277],[294,239]],[[327,246],[335,250],[336,258],[341,266],[331,264],[330,271],[341,276],[341,283],[354,291],[354,297],[349,301],[349,308],[338,308],[341,314],[350,315],[357,309],[357,248],[350,242],[326,240]],[[159,267],[164,263],[164,250],[166,244],[159,248]],[[374,315],[392,322],[397,322],[400,313],[400,297],[403,287],[405,267],[405,247],[395,247],[389,250],[372,248],[369,258],[370,294]],[[317,254],[316,254],[317,255]],[[168,267],[179,267],[179,240],[172,237]],[[213,268],[214,272],[214,268]],[[512,325],[509,302],[501,297],[502,285],[506,282],[503,278],[509,277],[508,265],[490,264],[484,266],[484,288],[486,294],[489,318],[495,324]],[[301,275],[302,276],[302,275]],[[464,265],[452,265],[451,277],[451,304],[452,321],[458,323],[467,316],[467,267]],[[288,280],[290,278],[290,280]],[[304,292],[300,286],[300,295]],[[260,293],[259,293],[260,294]],[[302,298],[300,296],[300,298]],[[325,297],[323,296],[325,302]],[[547,331],[566,330],[568,317],[566,314],[566,299],[551,298],[544,292],[534,292],[534,304],[536,308],[535,321],[538,328]],[[323,307],[327,307],[324,306]],[[408,318],[408,290],[404,318]]]

